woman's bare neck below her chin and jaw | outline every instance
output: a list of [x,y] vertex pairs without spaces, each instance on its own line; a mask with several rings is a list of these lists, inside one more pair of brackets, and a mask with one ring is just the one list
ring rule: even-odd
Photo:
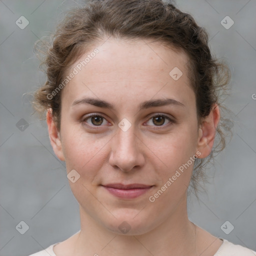
[[139,235],[114,233],[81,207],[80,221],[74,255],[196,255],[195,225],[188,219],[186,199],[161,224]]

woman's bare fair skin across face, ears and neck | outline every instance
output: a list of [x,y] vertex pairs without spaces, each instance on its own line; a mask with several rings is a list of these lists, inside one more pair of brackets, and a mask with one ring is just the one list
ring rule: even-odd
[[[61,91],[60,132],[51,109],[46,116],[55,154],[66,162],[67,173],[75,169],[80,175],[76,182],[68,181],[79,203],[81,231],[55,245],[55,254],[213,255],[222,241],[187,216],[186,191],[193,163],[154,202],[148,198],[189,157],[199,152],[198,158],[204,158],[210,153],[219,121],[218,106],[197,124],[195,95],[186,69],[188,57],[182,51],[141,39],[109,38],[91,49],[95,47],[99,53]],[[175,66],[183,73],[178,80],[169,75]],[[88,103],[72,106],[83,97],[105,100],[115,109]],[[145,100],[164,98],[184,106],[139,110]],[[98,121],[101,126],[86,119],[89,113],[103,116]],[[152,118],[156,114],[175,121],[165,118],[157,125],[159,121]],[[126,131],[118,127],[123,118],[131,124]],[[101,186],[107,183],[153,187],[139,197],[120,199]],[[118,228],[123,221],[131,227],[125,234]]]

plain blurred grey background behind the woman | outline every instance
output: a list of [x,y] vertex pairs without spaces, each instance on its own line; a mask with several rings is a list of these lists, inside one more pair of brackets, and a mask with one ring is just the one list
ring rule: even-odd
[[[33,43],[53,31],[62,12],[81,1],[0,0],[0,256],[28,255],[79,230],[79,211],[65,166],[56,159],[46,123],[31,115],[31,95],[44,82]],[[207,193],[188,200],[189,219],[215,236],[256,250],[255,0],[177,0],[209,32],[213,52],[232,72],[226,105],[234,113],[233,138],[208,170]],[[25,16],[20,29],[15,21]],[[230,16],[234,24],[220,21]],[[24,94],[24,95],[23,95]],[[23,95],[23,96],[22,96]],[[16,127],[28,122],[23,131]],[[20,234],[15,226],[25,221]],[[234,229],[225,234],[228,220]],[[229,227],[228,227],[229,228]]]

